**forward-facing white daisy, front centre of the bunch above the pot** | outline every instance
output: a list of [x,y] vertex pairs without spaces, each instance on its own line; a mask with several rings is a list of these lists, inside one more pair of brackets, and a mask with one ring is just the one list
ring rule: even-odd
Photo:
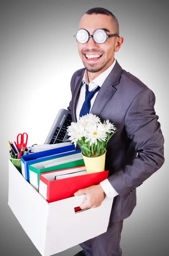
[[86,137],[87,139],[85,140],[85,142],[90,141],[90,145],[92,145],[92,143],[95,143],[95,145],[97,145],[97,140],[106,141],[107,134],[105,131],[103,131],[102,125],[97,126],[97,124],[94,124],[89,127],[89,131],[86,134]]

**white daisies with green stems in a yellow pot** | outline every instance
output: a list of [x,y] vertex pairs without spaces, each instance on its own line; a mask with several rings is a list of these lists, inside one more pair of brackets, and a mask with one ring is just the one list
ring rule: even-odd
[[108,119],[102,123],[92,113],[68,126],[69,140],[80,145],[87,173],[104,171],[106,146],[116,130],[114,123]]

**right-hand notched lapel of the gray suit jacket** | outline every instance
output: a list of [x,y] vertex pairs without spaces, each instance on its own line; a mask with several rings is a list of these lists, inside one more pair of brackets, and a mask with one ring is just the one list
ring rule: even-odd
[[101,86],[99,93],[96,96],[95,102],[92,106],[91,113],[99,116],[107,102],[111,99],[115,91],[117,90],[114,85],[119,83],[122,68],[116,61],[115,67],[110,72],[109,76]]

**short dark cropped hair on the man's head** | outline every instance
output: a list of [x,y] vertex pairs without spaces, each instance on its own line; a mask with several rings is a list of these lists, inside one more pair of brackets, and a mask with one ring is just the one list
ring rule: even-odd
[[95,7],[95,8],[92,8],[92,9],[88,10],[85,14],[89,14],[89,15],[91,15],[91,14],[104,14],[104,15],[107,15],[107,16],[111,16],[113,26],[114,26],[114,29],[115,29],[115,33],[119,34],[118,20],[115,17],[115,15],[113,15],[112,12],[110,12],[109,10],[104,9],[102,7]]

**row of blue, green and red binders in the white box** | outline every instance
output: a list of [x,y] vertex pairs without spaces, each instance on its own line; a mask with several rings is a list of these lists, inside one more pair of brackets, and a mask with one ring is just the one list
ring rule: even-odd
[[72,143],[21,157],[22,174],[47,202],[66,199],[97,185],[109,171],[87,174],[81,150]]

